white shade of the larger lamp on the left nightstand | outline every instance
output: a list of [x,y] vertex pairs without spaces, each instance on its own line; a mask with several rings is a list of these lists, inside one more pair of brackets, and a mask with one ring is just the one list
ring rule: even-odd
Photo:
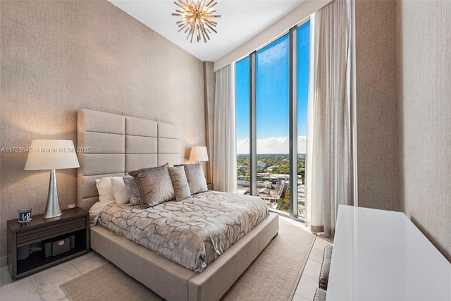
[[80,167],[71,140],[32,140],[25,170],[39,171]]

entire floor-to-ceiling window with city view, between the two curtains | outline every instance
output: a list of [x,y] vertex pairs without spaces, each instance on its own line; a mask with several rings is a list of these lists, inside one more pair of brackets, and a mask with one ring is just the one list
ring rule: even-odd
[[[238,191],[299,218],[304,216],[309,32],[309,22],[295,27],[235,66]],[[290,59],[293,54],[296,59]],[[291,140],[297,141],[290,142],[293,127],[297,139]]]

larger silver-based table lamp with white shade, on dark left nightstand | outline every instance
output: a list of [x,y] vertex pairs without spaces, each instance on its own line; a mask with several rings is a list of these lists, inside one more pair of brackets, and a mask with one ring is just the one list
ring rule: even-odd
[[49,195],[44,219],[63,215],[58,201],[55,169],[77,167],[80,167],[80,164],[71,140],[32,140],[25,171],[50,170]]

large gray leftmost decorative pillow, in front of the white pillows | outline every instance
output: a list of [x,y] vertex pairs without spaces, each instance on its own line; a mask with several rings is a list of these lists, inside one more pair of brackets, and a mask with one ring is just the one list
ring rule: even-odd
[[135,178],[138,191],[140,192],[142,207],[152,207],[175,199],[167,163],[159,167],[130,171],[128,174]]

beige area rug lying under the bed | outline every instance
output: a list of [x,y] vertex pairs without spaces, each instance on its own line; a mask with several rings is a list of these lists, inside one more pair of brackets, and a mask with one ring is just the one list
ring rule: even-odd
[[[293,221],[279,219],[279,234],[252,262],[221,300],[292,300],[315,236]],[[63,283],[73,301],[163,300],[113,264],[104,264]]]

